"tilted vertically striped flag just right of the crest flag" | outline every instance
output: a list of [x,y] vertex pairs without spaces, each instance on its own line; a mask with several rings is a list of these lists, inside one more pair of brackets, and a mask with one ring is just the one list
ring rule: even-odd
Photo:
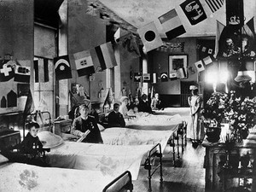
[[98,62],[102,70],[117,66],[111,42],[96,46],[94,50],[90,50],[90,54],[95,67],[98,66]]

